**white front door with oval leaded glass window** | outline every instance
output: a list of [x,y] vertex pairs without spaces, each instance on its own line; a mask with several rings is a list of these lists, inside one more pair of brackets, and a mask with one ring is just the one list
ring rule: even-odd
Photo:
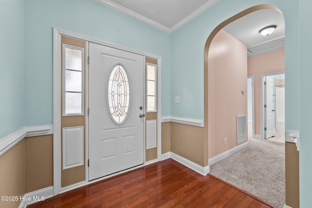
[[144,163],[144,59],[94,43],[89,57],[89,180],[94,180]]

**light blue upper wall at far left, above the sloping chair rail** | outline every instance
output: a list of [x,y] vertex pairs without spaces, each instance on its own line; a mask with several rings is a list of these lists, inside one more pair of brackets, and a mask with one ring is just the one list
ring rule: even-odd
[[0,138],[24,121],[24,1],[0,0]]

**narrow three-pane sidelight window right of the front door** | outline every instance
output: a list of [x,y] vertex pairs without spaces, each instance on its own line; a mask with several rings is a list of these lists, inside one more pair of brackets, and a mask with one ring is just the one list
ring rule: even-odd
[[147,63],[146,78],[146,111],[156,112],[156,65]]

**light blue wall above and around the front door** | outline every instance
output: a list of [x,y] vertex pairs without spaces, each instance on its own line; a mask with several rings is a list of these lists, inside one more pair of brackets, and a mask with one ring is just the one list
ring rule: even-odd
[[53,27],[161,56],[170,115],[170,34],[92,0],[25,1],[25,126],[53,123]]

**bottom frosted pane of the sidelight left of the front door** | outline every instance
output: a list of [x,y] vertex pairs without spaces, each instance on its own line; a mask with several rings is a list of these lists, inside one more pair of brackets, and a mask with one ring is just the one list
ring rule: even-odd
[[65,114],[82,113],[81,104],[81,93],[65,93]]

